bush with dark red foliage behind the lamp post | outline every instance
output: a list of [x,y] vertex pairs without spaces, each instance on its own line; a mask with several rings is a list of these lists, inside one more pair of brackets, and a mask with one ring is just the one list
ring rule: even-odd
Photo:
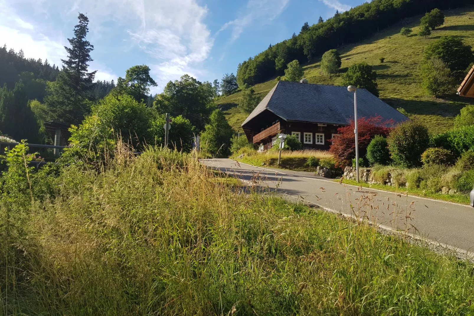
[[[365,117],[357,120],[357,130],[359,135],[359,157],[365,158],[367,146],[375,135],[386,137],[391,126],[394,125],[393,120],[382,121],[381,116]],[[329,152],[334,156],[339,167],[352,165],[352,158],[356,158],[356,138],[354,135],[354,120],[345,127],[338,128],[339,137],[331,139],[332,145]]]

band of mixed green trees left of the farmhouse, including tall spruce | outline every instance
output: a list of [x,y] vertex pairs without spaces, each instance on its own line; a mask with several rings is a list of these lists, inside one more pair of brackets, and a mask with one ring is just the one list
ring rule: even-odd
[[71,126],[73,149],[68,155],[96,157],[120,138],[136,149],[163,144],[165,113],[170,113],[170,148],[188,151],[193,137],[201,135],[207,154],[228,154],[233,131],[214,99],[237,89],[234,74],[212,84],[185,74],[155,96],[150,94],[156,83],[147,65],[129,68],[117,83],[94,82],[96,71],[89,70],[94,46],[86,38],[89,19],[80,13],[78,20],[64,47],[67,58],[61,70],[26,59],[21,52],[6,52],[6,47],[0,50],[0,67],[13,65],[8,68],[10,81],[0,89],[0,135],[52,143],[44,123],[62,122]]

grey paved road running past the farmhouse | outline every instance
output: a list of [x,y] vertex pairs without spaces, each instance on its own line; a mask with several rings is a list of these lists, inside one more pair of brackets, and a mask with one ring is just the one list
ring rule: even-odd
[[202,163],[333,212],[474,251],[474,208],[469,205],[344,185],[309,172],[254,167],[225,158]]

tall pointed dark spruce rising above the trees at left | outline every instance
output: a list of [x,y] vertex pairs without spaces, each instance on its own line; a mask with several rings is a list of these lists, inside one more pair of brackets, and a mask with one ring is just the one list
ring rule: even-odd
[[63,69],[56,81],[49,85],[45,97],[49,118],[71,124],[80,123],[90,112],[88,99],[93,99],[93,80],[97,72],[88,72],[94,49],[86,40],[89,19],[82,13],[77,18],[79,24],[74,27],[74,37],[68,38],[71,47],[64,46],[68,58],[61,60]]

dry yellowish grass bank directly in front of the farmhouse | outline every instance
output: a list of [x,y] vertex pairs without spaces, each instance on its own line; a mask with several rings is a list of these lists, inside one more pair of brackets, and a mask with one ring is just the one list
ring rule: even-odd
[[258,153],[256,151],[246,151],[246,154],[242,158],[233,157],[232,159],[240,162],[253,165],[261,166],[262,163],[265,167],[274,167],[295,171],[309,171],[315,172],[316,167],[310,167],[306,164],[308,158],[327,158],[332,159],[332,155],[326,150],[316,149],[304,149],[304,150],[283,150],[282,158],[280,160],[280,166],[278,166],[278,151],[267,150],[264,153]]

